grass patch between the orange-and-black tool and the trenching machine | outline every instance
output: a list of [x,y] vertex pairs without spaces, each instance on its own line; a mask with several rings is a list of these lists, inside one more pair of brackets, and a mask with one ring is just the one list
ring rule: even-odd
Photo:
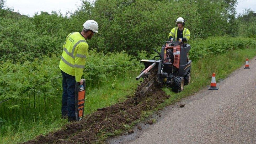
[[97,108],[103,108],[124,101],[126,95],[134,94],[138,81],[137,73],[126,73],[118,78],[109,79],[102,86],[89,90],[86,95],[85,113],[89,114]]

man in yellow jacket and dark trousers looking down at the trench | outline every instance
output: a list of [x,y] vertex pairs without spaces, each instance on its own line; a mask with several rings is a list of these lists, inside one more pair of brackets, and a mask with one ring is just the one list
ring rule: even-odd
[[81,33],[70,33],[63,45],[63,52],[60,60],[62,73],[62,118],[68,121],[75,121],[75,84],[83,84],[83,74],[86,56],[88,54],[87,39],[98,33],[98,23],[94,20],[87,20],[83,24]]

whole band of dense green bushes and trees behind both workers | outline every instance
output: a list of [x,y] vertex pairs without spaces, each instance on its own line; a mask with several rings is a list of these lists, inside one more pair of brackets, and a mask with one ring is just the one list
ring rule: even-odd
[[[0,60],[32,61],[41,55],[60,55],[65,37],[82,30],[88,19],[99,23],[99,33],[88,40],[90,49],[103,51],[150,52],[162,45],[177,17],[186,19],[191,39],[232,32],[231,16],[236,1],[127,1],[97,0],[83,4],[70,17],[41,12],[33,18],[5,13],[0,19]],[[233,23],[232,23],[233,24]]]

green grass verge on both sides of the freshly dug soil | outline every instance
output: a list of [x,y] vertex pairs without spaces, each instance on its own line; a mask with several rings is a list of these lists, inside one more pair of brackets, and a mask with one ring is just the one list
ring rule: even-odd
[[[227,51],[223,54],[212,55],[193,61],[191,83],[185,86],[181,93],[173,93],[169,88],[163,88],[166,94],[171,95],[169,99],[160,104],[155,110],[162,109],[171,103],[177,102],[181,98],[191,95],[210,84],[211,75],[216,73],[217,82],[226,78],[237,68],[245,64],[246,58],[252,58],[256,55],[255,47],[249,49],[238,49]],[[120,76],[112,77],[108,81],[101,82],[86,92],[85,114],[92,113],[97,108],[113,105],[120,101],[124,101],[126,95],[134,94],[138,81],[135,77],[138,72],[130,72]],[[61,99],[61,98],[60,98]],[[136,120],[131,126],[145,120],[153,111],[143,112],[142,119]],[[46,112],[45,112],[46,113]],[[0,143],[18,143],[33,139],[40,134],[47,134],[50,131],[60,129],[67,120],[60,118],[60,108],[56,108],[48,118],[38,121],[7,121],[1,124]],[[31,118],[33,119],[33,118]],[[131,126],[126,125],[126,130]],[[114,133],[102,135],[101,140],[105,140],[108,136],[121,134],[123,130],[116,130]]]

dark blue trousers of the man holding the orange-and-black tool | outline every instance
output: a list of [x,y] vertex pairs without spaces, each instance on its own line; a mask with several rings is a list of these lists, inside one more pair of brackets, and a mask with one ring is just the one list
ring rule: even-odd
[[62,107],[61,114],[66,115],[68,117],[75,118],[75,84],[76,78],[71,76],[63,71],[62,73]]

